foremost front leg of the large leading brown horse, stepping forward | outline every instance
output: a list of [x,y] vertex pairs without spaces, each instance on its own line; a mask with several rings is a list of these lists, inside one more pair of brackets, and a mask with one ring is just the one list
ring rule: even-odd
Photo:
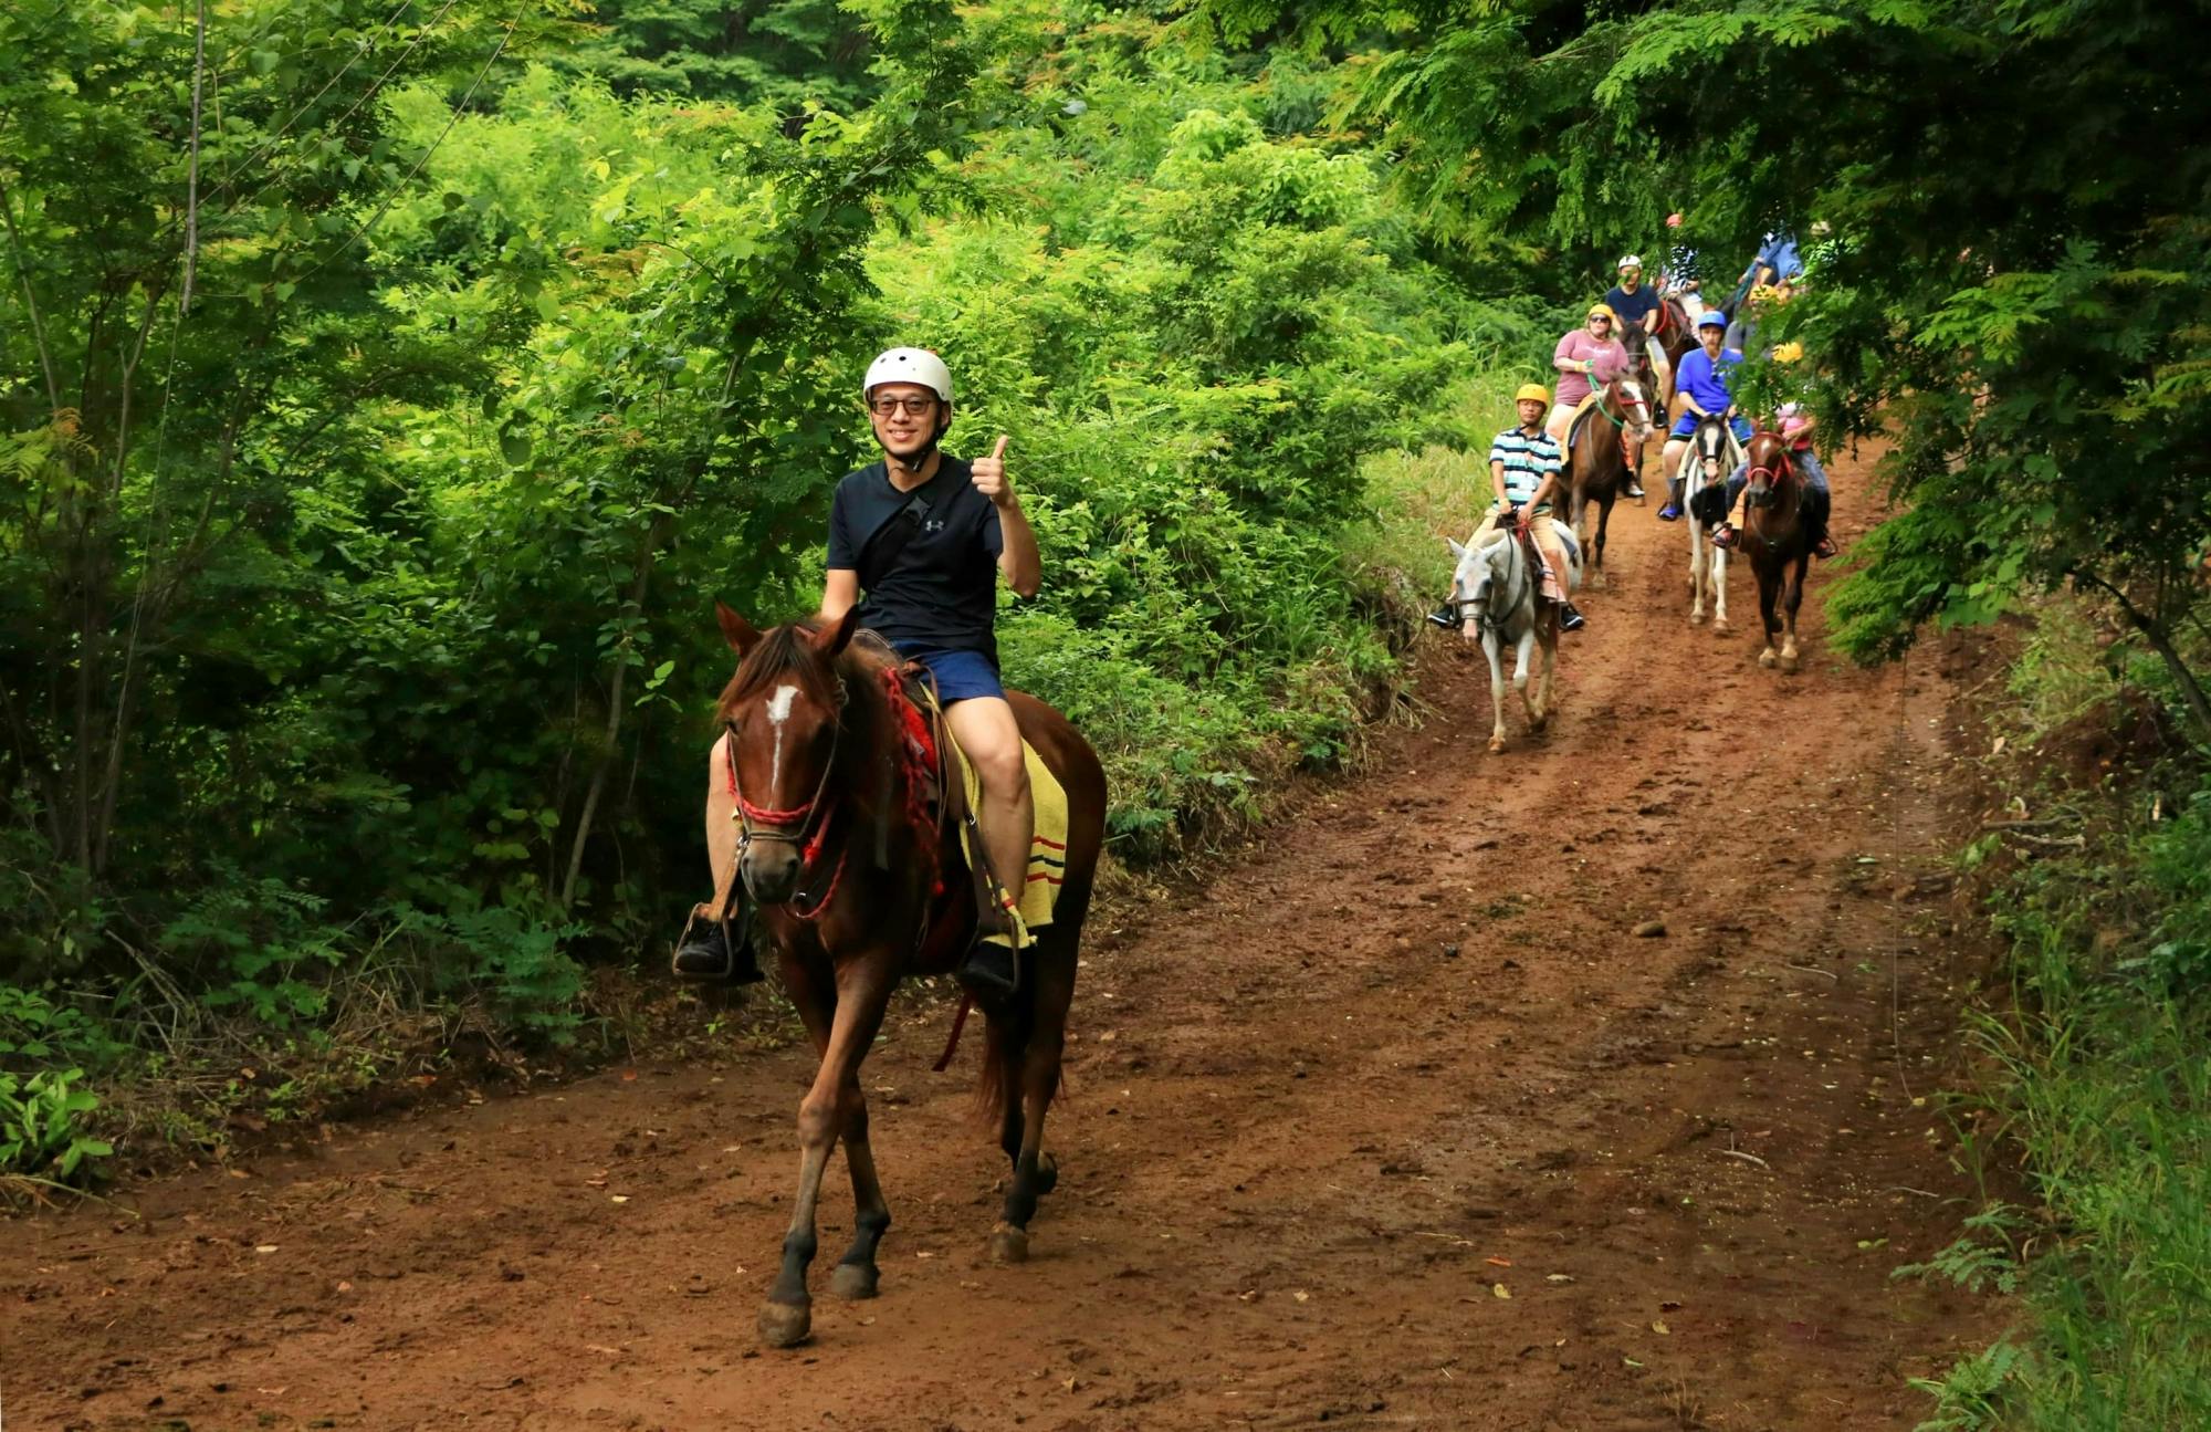
[[[822,1047],[822,1063],[814,1072],[814,1087],[798,1105],[798,1198],[792,1200],[792,1226],[783,1235],[783,1271],[776,1286],[761,1304],[761,1341],[772,1348],[792,1348],[805,1341],[814,1328],[814,1299],[807,1293],[807,1268],[820,1240],[814,1231],[814,1211],[820,1202],[822,1169],[829,1167],[829,1151],[836,1149],[838,1134],[851,1123],[860,1103],[860,1061],[876,1043],[882,1028],[882,1010],[891,997],[887,977],[889,952],[867,952],[838,968],[836,1014],[829,1023],[829,1039]],[[853,1187],[860,1180],[873,1182],[876,1162],[862,1143],[853,1162]],[[876,1200],[880,1204],[880,1189]],[[889,1226],[889,1211],[882,1211],[882,1226]],[[880,1231],[878,1231],[880,1235]],[[862,1238],[867,1233],[862,1231]]]

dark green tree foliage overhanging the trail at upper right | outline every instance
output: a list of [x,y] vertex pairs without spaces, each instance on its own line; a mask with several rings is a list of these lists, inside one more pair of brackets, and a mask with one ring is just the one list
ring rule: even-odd
[[1897,440],[1901,510],[1837,592],[1842,647],[1895,656],[1921,623],[2094,586],[2211,738],[2176,643],[2211,546],[2211,152],[2176,139],[2211,128],[2211,97],[2184,9],[1198,9],[1229,42],[1366,46],[1342,115],[1384,126],[1424,221],[1475,259],[1552,252],[1596,287],[1685,210],[1718,287],[1767,230],[1831,225],[1764,334],[1813,362],[1753,356],[1742,382],[1753,407],[1806,398],[1831,440]]

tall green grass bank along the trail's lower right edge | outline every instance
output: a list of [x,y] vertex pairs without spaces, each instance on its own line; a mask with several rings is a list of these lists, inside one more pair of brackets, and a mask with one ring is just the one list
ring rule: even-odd
[[1928,1383],[1928,1425],[2211,1419],[2207,871],[2211,787],[2169,820],[2123,820],[1997,891],[2016,1005],[1979,1021],[1994,1063],[1983,1098],[2023,1149],[2043,1211],[1997,1204],[1915,1268],[2027,1302],[2012,1339]]

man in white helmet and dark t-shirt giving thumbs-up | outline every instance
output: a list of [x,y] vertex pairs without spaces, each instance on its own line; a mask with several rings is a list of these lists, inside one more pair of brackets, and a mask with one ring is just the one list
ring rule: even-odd
[[[975,811],[991,868],[1019,882],[1028,868],[1035,809],[1021,731],[997,674],[997,575],[1021,597],[1041,581],[1037,537],[1006,480],[1006,440],[973,462],[937,444],[953,424],[953,376],[931,351],[893,347],[860,385],[882,460],[847,473],[829,506],[829,572],[820,621],[836,625],[860,606],[860,621],[929,670],[960,754],[982,785]],[[767,707],[776,720],[776,707]],[[736,826],[725,791],[727,736],[708,762],[708,855],[714,899],[692,915],[692,935],[674,952],[688,979],[761,979],[736,882]],[[979,999],[1015,988],[1015,957],[1004,913],[984,902],[975,946],[960,981]]]

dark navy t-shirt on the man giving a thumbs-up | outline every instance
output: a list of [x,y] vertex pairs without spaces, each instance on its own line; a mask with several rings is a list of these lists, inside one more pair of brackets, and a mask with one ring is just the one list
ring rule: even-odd
[[[884,572],[860,572],[860,550],[898,517],[907,493],[882,462],[845,473],[829,504],[829,568],[860,572],[860,625],[900,650],[982,652],[997,663],[997,508],[975,491],[973,468],[951,453],[922,486],[929,517]],[[898,517],[907,522],[904,517]],[[878,548],[882,541],[876,544]],[[871,559],[880,566],[880,557]],[[869,577],[876,577],[869,583]]]

